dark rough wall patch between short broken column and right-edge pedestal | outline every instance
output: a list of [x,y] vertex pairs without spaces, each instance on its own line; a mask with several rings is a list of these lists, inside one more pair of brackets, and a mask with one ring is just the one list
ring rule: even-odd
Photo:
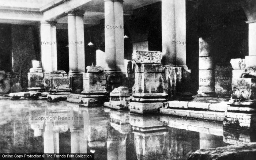
[[231,66],[215,66],[215,93],[219,97],[232,94],[232,68]]

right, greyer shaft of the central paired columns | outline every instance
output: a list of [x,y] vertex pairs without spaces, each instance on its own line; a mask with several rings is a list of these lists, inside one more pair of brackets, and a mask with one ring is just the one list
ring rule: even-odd
[[114,0],[115,44],[117,71],[124,71],[124,11],[123,0]]

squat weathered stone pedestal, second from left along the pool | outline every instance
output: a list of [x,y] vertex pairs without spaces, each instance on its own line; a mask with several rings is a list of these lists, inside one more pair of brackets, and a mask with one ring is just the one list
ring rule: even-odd
[[48,83],[50,101],[66,100],[71,92],[70,78],[65,71],[52,71],[46,81]]

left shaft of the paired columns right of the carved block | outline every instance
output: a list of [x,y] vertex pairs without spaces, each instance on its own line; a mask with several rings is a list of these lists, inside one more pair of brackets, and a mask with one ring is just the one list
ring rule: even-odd
[[176,65],[175,0],[162,0],[163,65]]

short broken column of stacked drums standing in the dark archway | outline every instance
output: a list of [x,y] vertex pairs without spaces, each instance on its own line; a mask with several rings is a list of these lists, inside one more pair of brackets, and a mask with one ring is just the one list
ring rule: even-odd
[[214,62],[211,57],[210,38],[199,38],[199,89],[198,96],[215,95]]

